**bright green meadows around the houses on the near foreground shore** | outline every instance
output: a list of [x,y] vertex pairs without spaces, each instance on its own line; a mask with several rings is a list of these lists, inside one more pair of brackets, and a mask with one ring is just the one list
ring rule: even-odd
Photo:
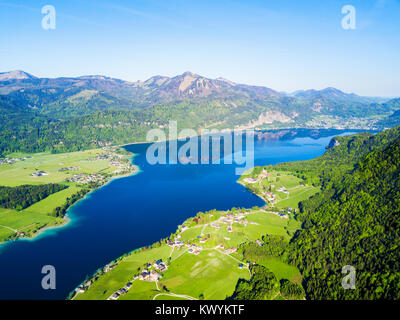
[[[246,220],[246,223],[233,220],[230,224],[232,230],[229,232],[229,226],[223,223],[227,214],[233,217],[241,216],[238,221]],[[232,295],[239,279],[250,278],[247,263],[241,260],[241,255],[236,252],[226,252],[226,249],[261,239],[265,234],[281,235],[289,239],[288,227],[291,229],[299,227],[299,223],[293,217],[283,219],[261,210],[215,212],[211,222],[201,221],[199,225],[191,226],[184,231],[178,229],[171,238],[183,241],[185,245],[172,248],[163,242],[158,247],[135,251],[123,257],[111,271],[100,275],[75,299],[107,299],[128,282],[132,282],[128,293],[121,295],[119,299],[222,300]],[[218,223],[220,228],[213,227],[212,222]],[[191,223],[191,219],[188,219],[184,225]],[[201,239],[207,240],[200,242]],[[189,249],[193,247],[201,248],[200,253],[197,255],[190,253]],[[135,275],[147,268],[147,263],[153,264],[158,259],[166,262],[168,269],[161,272],[162,278],[157,284],[154,281],[133,280]],[[240,264],[243,264],[243,267],[239,267]],[[263,265],[273,271],[278,279],[301,280],[296,267],[278,258],[268,258],[263,261]]]

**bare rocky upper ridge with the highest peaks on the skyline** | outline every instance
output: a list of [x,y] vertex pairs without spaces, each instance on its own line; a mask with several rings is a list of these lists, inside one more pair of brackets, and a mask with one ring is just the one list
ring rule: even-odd
[[[0,94],[16,91],[48,90],[48,93],[63,91],[64,96],[75,94],[76,90],[97,90],[127,98],[136,103],[170,102],[185,99],[246,97],[280,97],[269,88],[238,85],[222,78],[209,79],[192,72],[185,72],[175,77],[154,76],[146,81],[129,82],[105,76],[81,76],[76,78],[36,78],[22,71],[3,73],[6,83],[0,84]],[[0,77],[1,77],[0,75]],[[1,79],[1,78],[0,78]],[[50,91],[49,91],[50,90]],[[54,96],[54,94],[53,94]]]

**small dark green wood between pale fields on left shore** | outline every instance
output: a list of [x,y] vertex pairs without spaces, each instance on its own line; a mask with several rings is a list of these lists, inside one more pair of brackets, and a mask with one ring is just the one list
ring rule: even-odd
[[68,186],[54,183],[17,187],[0,186],[0,207],[22,210],[66,188]]

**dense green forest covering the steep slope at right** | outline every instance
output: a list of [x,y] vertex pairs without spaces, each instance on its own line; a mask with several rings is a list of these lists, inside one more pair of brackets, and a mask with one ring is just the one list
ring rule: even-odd
[[[322,186],[300,203],[302,229],[285,248],[311,299],[400,299],[400,128],[337,137],[309,161],[284,163]],[[344,290],[342,268],[356,269]]]

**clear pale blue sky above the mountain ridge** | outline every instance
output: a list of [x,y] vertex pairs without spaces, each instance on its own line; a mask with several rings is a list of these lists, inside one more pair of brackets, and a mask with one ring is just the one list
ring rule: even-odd
[[[44,30],[41,9],[56,9]],[[356,29],[341,27],[344,5]],[[400,0],[0,0],[0,71],[125,80],[192,71],[279,91],[400,96]]]

